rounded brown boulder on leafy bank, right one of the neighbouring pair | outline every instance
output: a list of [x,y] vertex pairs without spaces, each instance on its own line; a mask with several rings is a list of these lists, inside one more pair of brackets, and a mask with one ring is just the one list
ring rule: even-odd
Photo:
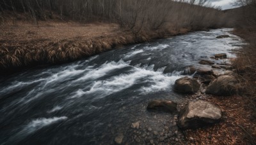
[[237,93],[239,81],[234,76],[220,76],[211,81],[205,93],[212,95],[233,95]]

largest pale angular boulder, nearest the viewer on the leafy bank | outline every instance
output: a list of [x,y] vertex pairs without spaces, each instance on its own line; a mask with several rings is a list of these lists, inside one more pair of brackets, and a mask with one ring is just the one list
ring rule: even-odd
[[189,102],[189,104],[180,111],[179,127],[184,129],[198,128],[216,123],[220,118],[220,107],[210,102],[198,100],[196,102]]

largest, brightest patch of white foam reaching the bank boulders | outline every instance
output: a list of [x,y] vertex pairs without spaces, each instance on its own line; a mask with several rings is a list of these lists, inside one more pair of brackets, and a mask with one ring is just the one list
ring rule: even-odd
[[[160,90],[166,90],[170,88],[176,79],[179,79],[180,73],[177,76],[170,76],[170,74],[163,74],[163,72],[155,72],[152,69],[154,66],[146,68],[133,67],[133,72],[129,74],[120,74],[107,80],[95,81],[91,86],[90,90],[84,92],[86,94],[97,94],[95,98],[102,98],[111,93],[119,92],[125,88],[140,82],[140,83],[151,83],[148,87],[138,88],[140,92],[156,92]],[[136,91],[136,90],[135,90]]]

